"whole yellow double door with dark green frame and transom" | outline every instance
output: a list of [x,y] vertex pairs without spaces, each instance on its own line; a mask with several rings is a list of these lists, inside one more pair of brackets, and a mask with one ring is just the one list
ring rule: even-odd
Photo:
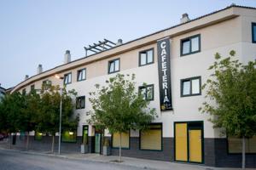
[[175,161],[203,162],[203,123],[175,122]]

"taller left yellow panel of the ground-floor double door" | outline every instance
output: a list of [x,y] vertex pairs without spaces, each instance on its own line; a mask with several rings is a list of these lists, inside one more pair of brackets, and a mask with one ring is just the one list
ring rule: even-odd
[[176,161],[188,161],[187,123],[175,125],[175,159]]

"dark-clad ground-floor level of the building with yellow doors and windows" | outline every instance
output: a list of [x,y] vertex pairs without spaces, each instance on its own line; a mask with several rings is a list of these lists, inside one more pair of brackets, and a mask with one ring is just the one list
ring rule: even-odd
[[[176,161],[192,164],[203,164],[211,167],[241,167],[240,143],[238,140],[226,138],[205,138],[204,122],[174,122],[173,137],[163,137],[162,123],[152,123],[147,130],[137,136],[131,132],[122,135],[122,156],[137,157],[158,161]],[[61,152],[81,151],[84,153],[103,154],[103,145],[108,141],[110,155],[119,155],[119,134],[104,136],[102,130],[94,129],[89,136],[89,126],[84,125],[82,136],[76,133],[63,133]],[[35,133],[36,134],[36,133]],[[66,135],[66,136],[65,136]],[[69,138],[68,135],[75,135]],[[256,154],[253,153],[255,143],[247,142],[246,167],[256,167]],[[13,138],[16,147],[26,147],[24,135]],[[30,136],[29,148],[32,150],[50,150],[52,136],[41,138]],[[238,148],[238,149],[237,149]],[[58,136],[55,137],[55,151],[58,150]]]

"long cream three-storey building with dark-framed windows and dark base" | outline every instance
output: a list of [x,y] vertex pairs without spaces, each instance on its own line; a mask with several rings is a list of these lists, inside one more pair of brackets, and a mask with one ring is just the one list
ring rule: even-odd
[[[101,153],[104,134],[111,140],[111,154],[118,155],[118,135],[107,130],[102,133],[87,123],[89,93],[96,90],[96,83],[104,84],[117,73],[134,73],[137,89],[150,100],[149,106],[158,116],[147,132],[122,134],[123,156],[241,167],[240,139],[220,136],[219,129],[207,121],[209,115],[198,111],[205,100],[201,85],[212,73],[207,69],[214,62],[214,54],[228,56],[230,50],[236,51],[241,62],[256,59],[256,8],[233,5],[195,20],[184,14],[177,26],[74,61],[68,59],[67,51],[66,64],[44,72],[39,65],[38,74],[20,82],[12,92],[29,93],[45,82],[61,85],[64,81],[67,89],[78,92],[74,102],[80,121],[77,132],[67,133],[76,138],[67,139],[67,143],[62,140],[61,149],[79,151],[82,140],[88,139],[89,152]],[[55,74],[64,80],[56,79]],[[43,136],[32,146],[48,148],[47,140]],[[248,139],[246,165],[256,167],[256,138]]]

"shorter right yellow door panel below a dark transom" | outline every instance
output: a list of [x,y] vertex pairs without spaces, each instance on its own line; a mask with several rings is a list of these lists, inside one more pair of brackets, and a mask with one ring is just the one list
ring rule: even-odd
[[201,162],[201,130],[189,130],[189,161]]

